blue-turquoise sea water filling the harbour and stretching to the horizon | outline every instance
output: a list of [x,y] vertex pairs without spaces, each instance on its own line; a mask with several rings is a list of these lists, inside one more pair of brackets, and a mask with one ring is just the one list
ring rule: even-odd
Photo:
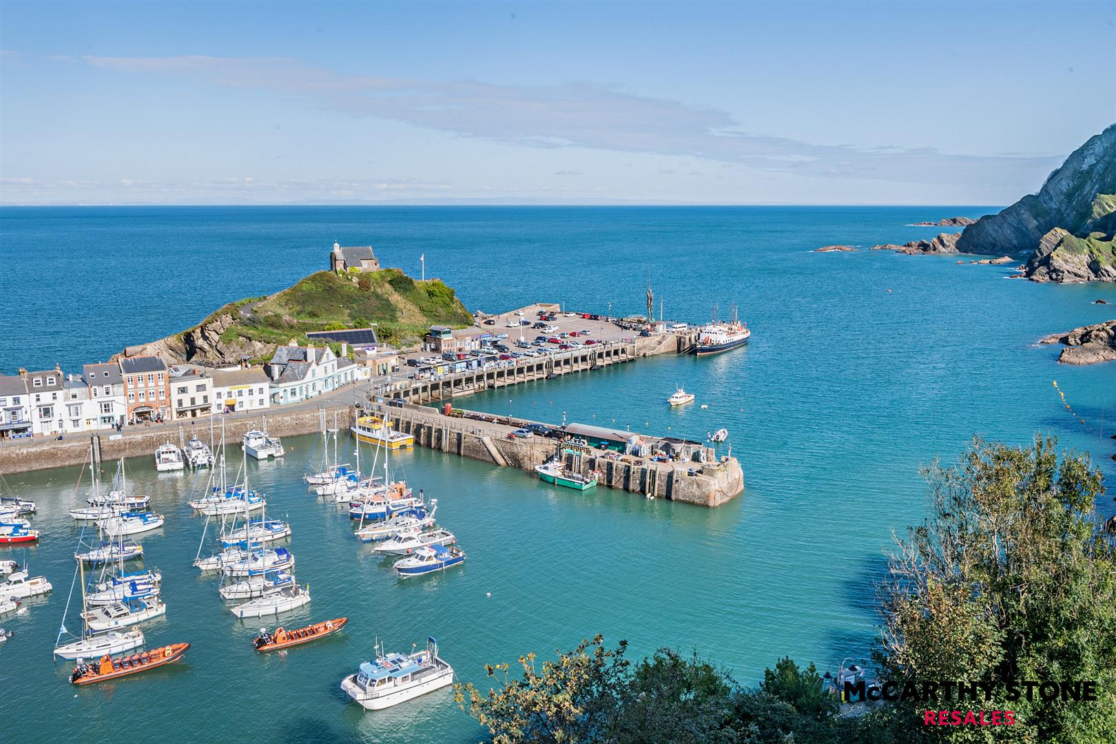
[[[1113,306],[1090,302],[1116,302],[1116,287],[1008,281],[1000,267],[949,258],[809,252],[902,242],[934,233],[907,223],[987,211],[0,210],[0,290],[19,298],[0,320],[6,373],[56,360],[73,368],[179,330],[233,297],[320,268],[334,239],[372,242],[386,264],[413,273],[425,253],[427,276],[488,311],[549,299],[637,312],[651,264],[668,317],[702,320],[714,302],[722,315],[735,302],[753,330],[747,348],[709,359],[646,359],[464,402],[698,437],[725,426],[747,490],[718,510],[604,489],[557,492],[522,472],[419,450],[401,456],[404,474],[440,499],[440,521],[469,560],[444,576],[400,580],[349,537],[344,513],[306,492],[312,438],[291,438],[285,463],[251,463],[271,513],[289,514],[297,574],[314,596],[283,621],[352,618],[338,637],[286,657],[257,656],[250,640],[260,624],[235,620],[215,583],[190,567],[202,525],[184,505],[192,476],[156,475],[137,460],[131,477],[167,516],[144,544],[147,564],[164,572],[169,612],[144,630],[153,642],[194,647],[171,668],[71,689],[69,666],[51,663],[50,648],[73,574],[77,530],[65,511],[83,497],[74,494],[78,470],[8,475],[40,504],[45,538],[26,555],[55,592],[0,618],[17,634],[0,647],[0,713],[40,712],[40,737],[51,742],[104,741],[127,726],[141,742],[463,743],[481,732],[446,692],[362,715],[337,685],[376,637],[406,649],[433,635],[472,682],[483,682],[484,663],[547,656],[597,631],[627,638],[634,655],[698,648],[748,683],[786,654],[822,667],[862,656],[891,532],[923,513],[920,464],[954,457],[974,433],[1021,443],[1041,431],[1093,452],[1109,483],[1116,474],[1116,367],[1060,367],[1056,348],[1035,345],[1113,317]],[[35,260],[39,249],[51,261]],[[94,264],[105,271],[59,283],[59,267]],[[1088,427],[1065,412],[1052,379]],[[667,409],[677,384],[709,408]],[[1113,505],[1100,508],[1107,515]],[[157,729],[136,726],[148,717]],[[202,719],[201,733],[190,728]]]

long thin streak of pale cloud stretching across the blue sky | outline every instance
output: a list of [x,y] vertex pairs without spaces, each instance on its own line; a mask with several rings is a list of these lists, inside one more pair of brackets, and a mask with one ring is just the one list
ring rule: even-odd
[[346,75],[287,58],[85,57],[124,74],[272,90],[356,116],[528,147],[692,156],[801,175],[954,183],[1035,182],[1055,157],[964,156],[926,147],[817,145],[744,132],[728,112],[589,83],[501,86]]

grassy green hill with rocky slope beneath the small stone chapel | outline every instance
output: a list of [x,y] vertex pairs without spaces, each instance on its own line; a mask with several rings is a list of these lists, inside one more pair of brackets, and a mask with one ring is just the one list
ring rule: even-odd
[[[270,297],[230,302],[183,336],[219,327],[221,346],[259,351],[259,344],[291,338],[306,344],[307,331],[376,323],[381,340],[406,345],[421,339],[432,323],[471,322],[470,312],[439,279],[415,281],[398,269],[347,276],[319,271]],[[253,356],[270,358],[270,350]]]

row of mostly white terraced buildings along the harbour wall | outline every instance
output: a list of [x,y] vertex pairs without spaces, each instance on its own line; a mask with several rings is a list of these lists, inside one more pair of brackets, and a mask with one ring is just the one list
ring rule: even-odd
[[398,355],[372,342],[341,355],[323,344],[276,349],[262,366],[206,368],[167,365],[155,356],[122,357],[0,375],[0,439],[59,436],[78,432],[198,418],[237,410],[263,410],[301,403],[372,375],[398,369]]

